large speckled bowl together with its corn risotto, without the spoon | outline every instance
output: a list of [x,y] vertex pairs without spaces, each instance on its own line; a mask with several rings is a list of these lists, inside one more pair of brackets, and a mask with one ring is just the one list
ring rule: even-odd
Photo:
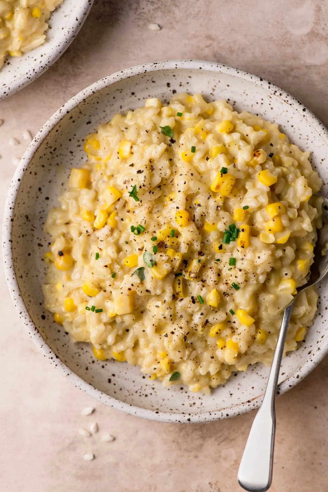
[[[179,95],[183,91],[187,94]],[[200,96],[192,96],[197,93],[202,94],[204,100]],[[128,112],[142,108],[146,99],[149,101],[144,110],[138,110],[139,113]],[[172,101],[167,109],[159,108],[160,104],[167,105],[170,99]],[[222,100],[227,102],[214,102]],[[229,105],[239,113],[247,111],[256,116],[251,117],[245,113],[236,116],[236,113],[231,113]],[[156,148],[150,146],[149,149],[150,142],[146,140],[150,126],[149,129],[143,128],[142,125],[146,123],[143,122],[140,111],[149,112],[145,121],[151,123],[153,130],[156,125],[161,127],[161,131],[155,128],[153,134],[156,142],[152,142]],[[111,121],[114,114],[127,112],[131,123],[129,128],[126,126],[126,117],[117,116],[114,122]],[[164,119],[163,115],[159,119],[160,112],[165,113]],[[195,118],[199,123],[200,113],[202,128],[197,128]],[[185,124],[187,119],[190,120],[190,125]],[[230,122],[233,128],[227,127],[220,131],[214,126],[216,120],[226,122],[226,126]],[[110,121],[115,128],[111,128],[110,124],[99,127],[99,124]],[[270,125],[266,121],[279,126]],[[270,134],[273,153],[266,146],[265,129]],[[124,134],[127,131],[134,131],[134,136]],[[154,170],[150,168],[150,161],[149,169],[133,169],[143,154],[139,159],[138,146],[131,147],[125,142],[135,140],[139,145],[141,141],[138,140],[138,132],[142,131],[145,131],[145,153],[158,154],[149,155],[150,160],[154,159],[153,168],[156,169],[156,165],[161,163],[158,168],[160,173],[155,172],[155,176],[150,174]],[[236,132],[241,135],[238,145]],[[90,133],[92,136],[84,145],[85,138]],[[123,140],[123,134],[131,138]],[[118,135],[116,140],[115,135]],[[102,137],[108,142],[106,149],[103,147]],[[181,148],[177,146],[176,137],[182,144]],[[210,139],[214,139],[213,142]],[[300,149],[299,151],[292,147],[290,156],[284,154],[283,144],[280,143],[287,145],[288,139]],[[261,140],[263,145],[259,145]],[[220,147],[220,152],[217,153],[217,149],[212,150],[220,145],[225,149]],[[83,147],[86,148],[88,157]],[[260,148],[262,152],[258,152]],[[265,389],[268,368],[263,364],[255,364],[244,369],[255,362],[255,359],[249,359],[254,357],[254,353],[257,354],[257,360],[265,360],[266,350],[273,349],[272,332],[276,334],[278,325],[272,309],[278,311],[279,301],[285,304],[288,302],[293,281],[297,285],[305,281],[306,268],[312,261],[311,243],[315,240],[315,233],[311,232],[311,222],[319,225],[320,217],[318,218],[316,204],[308,202],[311,190],[307,189],[305,182],[301,186],[300,181],[306,175],[313,192],[317,192],[321,184],[316,171],[324,182],[327,181],[327,170],[323,165],[327,158],[327,149],[327,130],[298,101],[269,82],[230,67],[197,61],[153,63],[124,70],[90,86],[68,101],[41,129],[24,155],[8,195],[3,229],[5,268],[15,306],[30,336],[43,354],[78,387],[94,398],[131,414],[170,422],[204,422],[256,408]],[[207,154],[209,151],[212,155]],[[314,153],[309,157],[306,151]],[[240,165],[234,166],[236,152],[235,157]],[[248,155],[247,152],[251,154]],[[117,165],[114,157],[118,159]],[[165,167],[170,158],[180,162],[179,173],[172,173],[177,178],[176,182],[172,180],[172,189],[169,189],[170,173]],[[250,161],[251,170],[248,167],[243,168],[243,162]],[[262,165],[265,166],[263,169]],[[288,172],[288,166],[293,167],[292,173]],[[85,169],[82,172],[84,176],[76,171],[71,174],[71,168],[80,170],[82,167]],[[192,200],[186,193],[186,186],[190,186],[191,182],[190,176],[184,179],[186,183],[181,181],[181,175],[190,172],[190,169],[196,170],[197,176],[193,180],[196,187],[201,188],[192,190]],[[263,174],[262,171],[268,172]],[[157,176],[161,173],[162,176]],[[290,183],[294,182],[296,192],[295,188],[293,191],[284,189],[283,182],[286,181],[282,178],[288,175],[293,175]],[[107,176],[108,186],[103,186],[104,176]],[[161,184],[148,185],[147,176],[149,180],[157,177],[163,180],[163,188],[166,188],[163,191],[163,200],[165,198],[166,203],[163,201],[159,205],[159,201],[156,205],[155,202],[162,193]],[[242,181],[245,178],[247,182]],[[98,207],[92,203],[92,186],[82,183],[81,179],[91,179],[92,186],[97,185]],[[242,186],[237,186],[238,191],[234,194],[230,193],[231,189],[235,189],[232,186],[235,184],[230,183],[232,180],[242,183]],[[141,184],[145,184],[145,187]],[[157,196],[153,197],[152,187],[155,185],[159,189]],[[274,189],[274,195],[272,190],[270,192],[270,186]],[[205,197],[207,187],[211,192]],[[182,195],[179,196],[178,193],[181,192]],[[322,192],[327,192],[325,186]],[[104,197],[102,193],[105,193]],[[282,209],[277,205],[278,209],[274,214],[274,210],[266,209],[270,193],[274,196],[274,203],[285,203]],[[111,201],[114,194],[117,196]],[[154,201],[151,203],[155,207],[151,216],[147,216],[143,209],[147,203],[147,194],[149,203]],[[60,196],[61,208],[49,215],[46,225],[46,230],[51,233],[54,241],[51,244],[51,236],[44,232],[44,224],[51,207],[59,206]],[[208,202],[207,198],[209,204],[205,203]],[[188,203],[189,199],[192,203]],[[287,202],[291,201],[295,201],[293,206],[299,209],[302,223],[289,211]],[[222,223],[213,228],[216,207],[222,207]],[[80,217],[80,209],[83,209],[85,216]],[[207,220],[204,221],[205,215]],[[250,231],[245,227],[247,215],[255,217],[249,222]],[[128,222],[128,216],[131,216],[129,228],[119,223],[121,219]],[[104,224],[100,224],[102,218],[105,220]],[[60,239],[65,234],[65,227],[70,227],[70,231],[76,234],[75,245],[64,244]],[[257,234],[263,234],[261,244],[256,241],[254,243],[254,238],[257,237],[254,228],[257,228]],[[249,232],[252,241],[251,254],[255,249],[258,250],[259,263],[255,257],[245,258],[242,254],[243,246],[247,248]],[[111,234],[114,243],[121,243],[118,256],[115,256],[115,251],[110,251],[108,237]],[[294,237],[292,242],[289,236],[291,239]],[[304,248],[299,252],[299,245],[294,246],[299,241],[302,242],[302,236]],[[197,253],[197,258],[194,253],[195,258],[187,257],[188,241],[195,243],[192,248],[194,253],[201,253]],[[105,250],[101,247],[101,242],[105,243]],[[197,245],[197,242],[200,244]],[[286,245],[285,250],[281,246],[283,244]],[[82,254],[79,262],[79,251],[81,253],[86,245],[88,254],[92,253],[92,257],[89,256],[86,260]],[[296,255],[293,255],[293,249],[297,252]],[[245,278],[239,270],[252,270],[256,263],[255,291],[271,268],[265,257],[269,257],[269,251],[272,250],[277,251],[274,260],[282,264],[281,271],[277,270],[280,277],[273,275],[268,279],[270,284],[265,284],[262,304],[257,305],[260,309],[254,311],[251,306],[252,287],[245,286],[245,280],[249,276]],[[284,257],[290,256],[290,261],[284,263],[279,260],[280,250]],[[76,261],[72,275],[65,273],[67,266],[68,269],[72,267],[72,264],[68,265],[71,261],[68,258],[70,252],[73,261]],[[181,252],[181,264],[180,258],[176,256],[177,252]],[[216,262],[218,259],[220,261]],[[185,268],[184,260],[188,265]],[[56,268],[52,265],[53,262],[57,262],[57,267],[64,265],[64,268]],[[259,264],[262,265],[261,268]],[[104,277],[108,285],[102,285],[99,281],[104,269],[110,272],[110,280],[109,275],[106,279]],[[100,277],[92,283],[93,270]],[[137,273],[134,273],[136,270]],[[88,272],[90,278],[86,277]],[[286,281],[281,275],[286,275]],[[226,287],[222,285],[222,276],[228,282]],[[84,282],[80,285],[81,279]],[[184,284],[184,295],[179,291],[179,281]],[[137,287],[132,286],[131,282],[137,284]],[[58,326],[53,314],[43,307],[44,283],[48,286],[45,288],[46,307],[56,313],[57,322],[63,323],[64,327]],[[106,287],[113,292],[113,299],[107,296]],[[92,288],[95,290],[88,290]],[[124,299],[119,298],[122,288],[127,291]],[[277,288],[280,299],[275,295]],[[137,291],[136,305],[132,304],[135,301],[130,299],[129,289]],[[283,360],[279,393],[294,386],[327,352],[326,330],[320,316],[325,309],[324,289],[325,284],[318,289],[321,299],[305,341],[298,340],[304,338],[301,329],[311,325],[316,305],[315,292],[308,292],[302,305],[295,308],[288,340],[288,349],[293,351]],[[242,295],[243,291],[247,291],[247,296]],[[162,299],[158,297],[160,295]],[[154,306],[148,304],[149,299],[151,303],[151,296]],[[161,306],[157,304],[158,301]],[[165,303],[168,304],[167,312],[163,309]],[[183,304],[182,308],[179,308],[179,303]],[[268,309],[270,303],[275,306],[271,310]],[[143,308],[144,305],[147,310]],[[200,309],[201,307],[204,309]],[[100,329],[101,326],[106,327],[110,323],[108,316],[111,309],[115,316],[119,316],[116,322],[120,328],[126,324],[126,335],[118,339],[116,333],[117,345],[113,346],[108,345],[111,334],[106,334],[105,342],[100,333],[104,331]],[[170,309],[174,312],[173,319],[170,320],[174,324],[171,330],[174,333],[168,332],[166,337],[165,329],[171,325],[165,323],[165,319],[166,316],[170,317]],[[179,309],[181,312],[178,312]],[[151,326],[149,316],[155,319],[155,329]],[[89,320],[87,324],[86,319]],[[220,323],[224,326],[220,326]],[[271,323],[270,330],[268,325]],[[178,336],[179,326],[182,338]],[[251,327],[249,335],[255,340],[251,354],[247,354],[249,340],[244,333],[247,332],[247,326]],[[90,330],[90,327],[94,330]],[[188,328],[193,332],[201,328],[199,336],[193,333],[191,338],[190,333],[187,333]],[[147,336],[143,336],[146,331]],[[76,340],[91,341],[93,351],[91,344],[79,341],[72,343],[68,332]],[[122,335],[123,331],[120,330],[119,333]],[[138,346],[134,347],[133,343],[131,345],[133,336],[138,339]],[[267,340],[263,339],[265,337]],[[195,345],[195,354],[188,352],[189,355],[186,356],[188,343],[189,348],[190,343]],[[144,350],[151,344],[158,351],[154,360],[149,357],[149,351]],[[294,350],[297,344],[298,349]],[[266,350],[264,346],[267,347]],[[136,355],[133,355],[133,349]],[[179,362],[173,349],[177,353],[183,351],[183,357],[189,357],[188,360],[192,360],[192,356],[195,360],[198,356],[202,358],[204,370],[202,369],[198,379],[193,378],[192,365]],[[237,359],[236,350],[239,351]],[[244,354],[244,358],[241,354]],[[125,359],[133,366],[120,362]],[[218,368],[214,367],[218,361],[223,365],[220,374]],[[135,364],[141,366],[143,372]],[[235,372],[236,370],[239,372]],[[163,386],[153,377],[161,379]],[[218,388],[208,391],[209,387],[218,384]],[[188,385],[196,393],[190,393],[184,385]]]

